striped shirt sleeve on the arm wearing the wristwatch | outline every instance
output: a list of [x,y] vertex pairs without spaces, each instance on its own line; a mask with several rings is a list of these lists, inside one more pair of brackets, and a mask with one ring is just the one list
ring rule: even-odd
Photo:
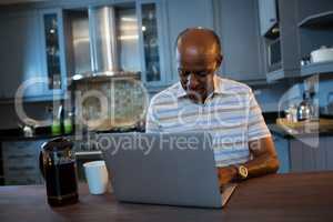
[[264,121],[262,111],[250,91],[249,98],[249,121],[248,121],[248,140],[253,141],[261,138],[271,137],[271,132]]

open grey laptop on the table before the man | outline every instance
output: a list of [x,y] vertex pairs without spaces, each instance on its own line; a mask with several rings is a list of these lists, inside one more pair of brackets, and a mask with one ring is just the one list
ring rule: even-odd
[[222,208],[236,184],[220,192],[209,133],[99,135],[118,201]]

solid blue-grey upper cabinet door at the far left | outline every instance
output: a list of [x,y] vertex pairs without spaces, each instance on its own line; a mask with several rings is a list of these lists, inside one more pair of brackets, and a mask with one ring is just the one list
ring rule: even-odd
[[[21,83],[42,75],[38,13],[1,14],[0,29],[0,82],[3,98],[12,99]],[[29,85],[24,97],[42,93],[42,84]]]

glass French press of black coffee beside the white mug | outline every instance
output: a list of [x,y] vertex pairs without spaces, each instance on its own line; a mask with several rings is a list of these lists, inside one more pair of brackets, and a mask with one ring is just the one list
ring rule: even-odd
[[73,143],[58,138],[42,144],[40,170],[46,180],[48,202],[52,206],[77,203],[78,180]]

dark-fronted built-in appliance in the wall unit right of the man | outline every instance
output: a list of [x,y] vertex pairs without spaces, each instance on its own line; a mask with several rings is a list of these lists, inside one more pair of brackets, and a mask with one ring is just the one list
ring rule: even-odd
[[276,38],[268,42],[268,70],[276,71],[282,68],[281,40]]

